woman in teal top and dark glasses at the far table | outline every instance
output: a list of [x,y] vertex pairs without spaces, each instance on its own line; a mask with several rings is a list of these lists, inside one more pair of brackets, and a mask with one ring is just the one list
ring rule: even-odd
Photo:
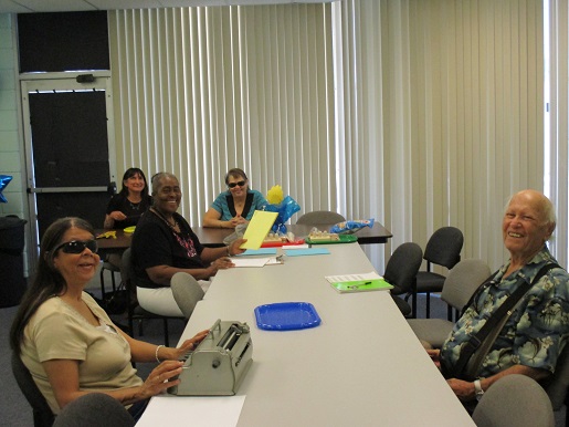
[[235,228],[247,222],[255,210],[263,210],[266,200],[249,188],[243,169],[233,168],[225,175],[228,190],[220,194],[203,217],[203,227]]

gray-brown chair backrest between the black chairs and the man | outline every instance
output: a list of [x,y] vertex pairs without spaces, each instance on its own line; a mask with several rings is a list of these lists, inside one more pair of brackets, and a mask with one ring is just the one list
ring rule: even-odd
[[489,267],[478,259],[466,259],[454,265],[444,280],[441,300],[462,310],[472,294],[491,275]]

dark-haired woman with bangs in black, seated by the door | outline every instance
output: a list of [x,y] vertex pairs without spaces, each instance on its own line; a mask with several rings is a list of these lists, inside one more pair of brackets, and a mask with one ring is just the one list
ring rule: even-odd
[[123,229],[136,226],[140,216],[152,205],[143,170],[131,167],[123,175],[123,188],[107,205],[105,228]]

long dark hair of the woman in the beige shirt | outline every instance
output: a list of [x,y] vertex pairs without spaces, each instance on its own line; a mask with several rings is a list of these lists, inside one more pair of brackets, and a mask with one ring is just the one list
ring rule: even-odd
[[81,218],[67,217],[54,221],[43,235],[40,260],[31,285],[25,291],[10,329],[10,346],[20,354],[23,331],[38,308],[50,298],[61,295],[67,285],[63,275],[53,265],[53,250],[62,243],[63,235],[72,227],[94,233],[91,223]]

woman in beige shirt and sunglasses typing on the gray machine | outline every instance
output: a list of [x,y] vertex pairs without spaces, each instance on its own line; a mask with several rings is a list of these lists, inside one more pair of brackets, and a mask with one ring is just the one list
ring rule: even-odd
[[[179,348],[134,340],[120,331],[84,288],[99,257],[93,228],[80,218],[62,218],[45,231],[36,275],[10,331],[20,355],[54,414],[88,393],[105,393],[136,418],[149,397],[175,385],[178,360],[207,331]],[[161,362],[146,382],[131,362]]]

